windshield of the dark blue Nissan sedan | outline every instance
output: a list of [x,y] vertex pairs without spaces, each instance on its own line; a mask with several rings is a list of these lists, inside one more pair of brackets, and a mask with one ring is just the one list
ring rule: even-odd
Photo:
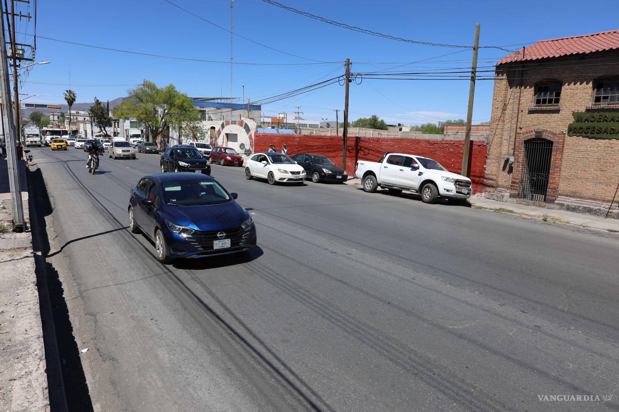
[[170,206],[201,206],[230,202],[230,195],[215,181],[186,180],[162,183],[163,202]]

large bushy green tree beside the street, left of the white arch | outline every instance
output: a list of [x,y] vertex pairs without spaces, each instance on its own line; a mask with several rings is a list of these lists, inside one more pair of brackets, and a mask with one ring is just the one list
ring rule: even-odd
[[182,128],[187,122],[199,119],[194,119],[199,114],[191,99],[171,84],[157,87],[154,82],[144,80],[127,90],[127,97],[114,108],[114,116],[137,119],[147,129],[150,139],[157,139],[168,126]]

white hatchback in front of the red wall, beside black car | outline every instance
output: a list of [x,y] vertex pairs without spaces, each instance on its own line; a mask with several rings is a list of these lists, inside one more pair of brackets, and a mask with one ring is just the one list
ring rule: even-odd
[[269,184],[303,184],[306,173],[303,167],[282,153],[256,153],[250,157],[245,167],[245,178],[267,179]]

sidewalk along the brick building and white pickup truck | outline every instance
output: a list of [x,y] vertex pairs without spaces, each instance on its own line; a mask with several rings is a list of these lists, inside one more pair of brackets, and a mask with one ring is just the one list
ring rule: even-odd
[[[361,185],[361,181],[360,179],[350,179],[346,184],[358,187]],[[557,223],[566,223],[584,228],[619,233],[619,219],[605,219],[585,213],[565,212],[564,210],[519,205],[511,202],[506,203],[500,200],[485,199],[477,195],[470,197],[469,202],[473,207],[478,209],[490,209],[496,212],[513,213],[521,216],[539,218],[545,221],[555,221]]]

